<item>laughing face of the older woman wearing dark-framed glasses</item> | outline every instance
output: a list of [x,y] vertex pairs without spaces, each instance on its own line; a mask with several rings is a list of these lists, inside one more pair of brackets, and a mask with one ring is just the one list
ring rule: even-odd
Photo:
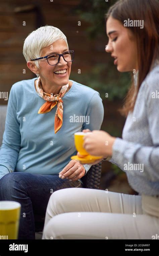
[[[53,53],[62,54],[68,50],[69,49],[64,40],[57,40],[51,45],[43,48],[40,52],[40,57],[44,57]],[[45,80],[45,83],[47,84],[53,84],[54,86],[66,85],[69,82],[71,64],[72,62],[64,61],[62,56],[60,58],[60,62],[54,66],[49,65],[46,59],[42,59],[39,63],[39,75],[41,79]],[[58,70],[63,70],[63,73],[56,74],[55,72]]]

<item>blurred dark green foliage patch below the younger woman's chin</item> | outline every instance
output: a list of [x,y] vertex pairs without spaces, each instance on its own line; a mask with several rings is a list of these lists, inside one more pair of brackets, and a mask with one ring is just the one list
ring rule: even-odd
[[108,98],[110,101],[123,99],[130,85],[130,75],[129,73],[119,73],[115,66],[107,69],[107,65],[95,64],[90,72],[83,74],[71,72],[70,78],[99,91],[102,99]]

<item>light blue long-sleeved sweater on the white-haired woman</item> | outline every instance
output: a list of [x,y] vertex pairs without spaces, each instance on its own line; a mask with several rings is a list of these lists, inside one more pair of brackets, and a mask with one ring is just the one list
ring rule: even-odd
[[[0,150],[0,178],[13,171],[58,174],[76,155],[74,132],[101,128],[104,109],[99,93],[71,80],[73,84],[62,98],[63,125],[55,134],[57,107],[38,114],[46,101],[38,95],[35,79],[11,87]],[[84,166],[88,171],[91,165]]]

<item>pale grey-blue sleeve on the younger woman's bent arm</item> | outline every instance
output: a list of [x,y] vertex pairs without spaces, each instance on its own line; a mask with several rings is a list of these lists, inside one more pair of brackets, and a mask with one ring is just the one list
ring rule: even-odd
[[143,146],[140,143],[133,143],[121,138],[116,138],[113,144],[113,155],[110,162],[118,165],[123,171],[131,172],[136,175],[133,170],[127,170],[125,164],[143,164],[142,174],[150,181],[159,181],[159,97],[153,97],[158,90],[158,77],[154,77],[145,83],[144,100],[146,104],[146,113],[149,123],[149,133],[153,142],[153,146]]

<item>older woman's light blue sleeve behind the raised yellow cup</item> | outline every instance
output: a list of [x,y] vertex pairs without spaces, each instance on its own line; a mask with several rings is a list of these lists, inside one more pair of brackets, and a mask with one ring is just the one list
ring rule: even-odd
[[[83,129],[100,130],[104,117],[104,107],[102,99],[98,92],[95,92],[91,98],[86,116],[89,118],[89,122],[83,124]],[[91,168],[92,164],[84,164],[86,173]],[[85,175],[86,175],[85,173]]]

